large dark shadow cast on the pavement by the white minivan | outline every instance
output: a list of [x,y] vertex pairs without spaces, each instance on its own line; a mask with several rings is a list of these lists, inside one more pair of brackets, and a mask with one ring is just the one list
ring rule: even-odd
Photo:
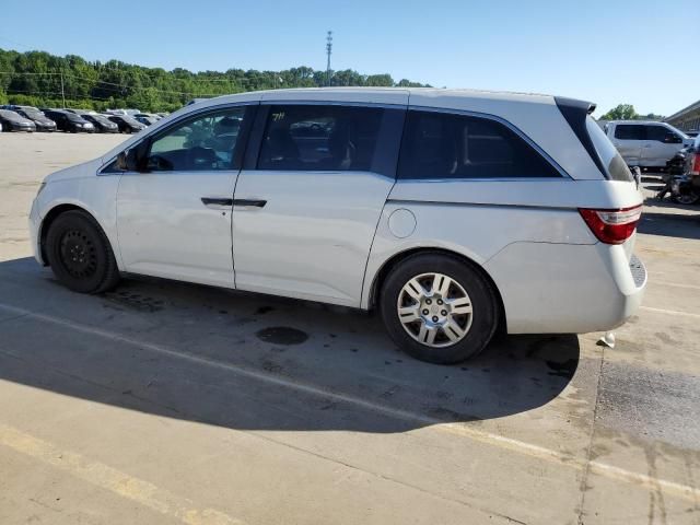
[[575,336],[522,336],[431,365],[360,312],[147,278],[80,295],[28,258],[0,264],[0,380],[232,429],[502,418],[551,401],[580,363]]

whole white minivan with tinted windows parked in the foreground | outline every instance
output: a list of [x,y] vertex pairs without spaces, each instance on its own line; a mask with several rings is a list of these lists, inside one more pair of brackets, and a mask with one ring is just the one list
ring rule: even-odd
[[580,101],[310,89],[186,106],[49,175],[36,258],[71,290],[119,272],[376,308],[427,361],[497,328],[622,324],[642,197]]

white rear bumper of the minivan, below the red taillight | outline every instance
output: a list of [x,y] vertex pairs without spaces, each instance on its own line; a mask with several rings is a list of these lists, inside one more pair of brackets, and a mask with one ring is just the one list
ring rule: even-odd
[[622,245],[514,243],[485,265],[501,292],[509,334],[584,334],[638,311],[646,269]]

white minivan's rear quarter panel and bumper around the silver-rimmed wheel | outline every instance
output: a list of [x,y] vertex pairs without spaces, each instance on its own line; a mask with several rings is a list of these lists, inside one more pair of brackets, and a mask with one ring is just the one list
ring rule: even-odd
[[[627,267],[634,240],[615,247],[599,243],[578,209],[640,202],[634,184],[622,182],[399,180],[377,225],[362,306],[373,306],[376,278],[393,257],[441,248],[467,257],[492,279],[509,332],[602,329],[621,315],[615,272]],[[390,224],[400,209],[416,218],[401,238]],[[611,249],[622,262],[614,264]]]

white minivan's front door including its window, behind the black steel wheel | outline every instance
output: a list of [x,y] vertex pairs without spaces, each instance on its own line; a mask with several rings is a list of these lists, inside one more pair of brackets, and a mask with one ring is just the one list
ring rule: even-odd
[[234,288],[231,208],[255,107],[175,124],[147,144],[143,173],[121,176],[117,228],[127,271]]

